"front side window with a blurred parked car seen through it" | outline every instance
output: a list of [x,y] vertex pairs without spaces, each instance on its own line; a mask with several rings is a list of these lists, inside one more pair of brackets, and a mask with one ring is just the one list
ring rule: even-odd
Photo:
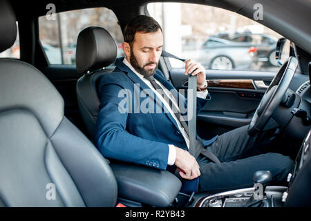
[[[274,55],[281,35],[252,19],[190,3],[149,3],[147,10],[162,26],[168,52],[209,69],[279,70]],[[169,61],[173,68],[184,66]]]

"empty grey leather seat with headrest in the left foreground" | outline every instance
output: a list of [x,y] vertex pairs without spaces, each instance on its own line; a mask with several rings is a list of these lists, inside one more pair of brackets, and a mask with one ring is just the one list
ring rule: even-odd
[[[0,0],[0,52],[15,42],[15,21]],[[0,193],[0,206],[117,201],[110,166],[64,116],[62,96],[37,68],[13,59],[0,59]]]

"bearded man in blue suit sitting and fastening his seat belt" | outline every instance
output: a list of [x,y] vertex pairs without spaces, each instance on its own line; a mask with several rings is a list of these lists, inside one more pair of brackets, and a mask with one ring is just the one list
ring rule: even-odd
[[[126,57],[117,59],[115,70],[101,79],[98,88],[101,104],[95,142],[101,153],[172,173],[178,168],[183,180],[198,180],[194,191],[252,186],[252,175],[260,170],[271,171],[274,180],[284,180],[292,160],[277,153],[254,155],[255,138],[247,135],[247,126],[202,140],[220,164],[202,154],[196,159],[189,154],[187,126],[176,114],[187,100],[179,93],[174,98],[176,89],[158,70],[162,47],[162,29],[153,18],[140,15],[127,24],[122,44]],[[189,59],[185,75],[189,73],[197,75],[200,111],[210,99],[205,68]]]

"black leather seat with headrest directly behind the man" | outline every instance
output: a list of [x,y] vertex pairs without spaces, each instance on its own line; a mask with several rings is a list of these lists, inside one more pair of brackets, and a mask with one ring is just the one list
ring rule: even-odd
[[113,37],[104,28],[88,27],[77,38],[76,65],[77,72],[84,73],[77,81],[77,102],[86,128],[94,138],[97,114],[100,111],[100,96],[97,85],[102,75],[111,73],[117,57],[117,46]]

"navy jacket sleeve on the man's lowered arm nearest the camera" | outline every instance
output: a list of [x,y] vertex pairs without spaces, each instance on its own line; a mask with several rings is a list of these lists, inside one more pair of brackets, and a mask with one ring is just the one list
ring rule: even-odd
[[[167,169],[169,146],[146,140],[126,131],[129,111],[120,107],[120,84],[100,86],[100,112],[97,115],[95,144],[104,157],[144,164],[156,169]],[[128,90],[129,91],[129,90]]]

